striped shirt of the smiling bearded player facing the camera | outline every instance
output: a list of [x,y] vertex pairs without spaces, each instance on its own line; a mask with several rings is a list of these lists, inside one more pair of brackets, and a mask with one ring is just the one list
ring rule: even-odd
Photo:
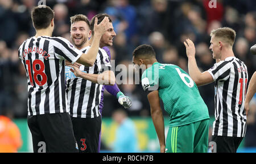
[[[83,53],[89,50],[90,46],[81,49]],[[101,74],[110,70],[110,59],[104,49],[99,48],[96,62],[92,67],[80,66],[80,70],[88,74]],[[65,68],[68,109],[70,115],[76,118],[96,118],[100,116],[99,105],[101,101],[101,89],[103,85],[92,83],[89,80],[76,77],[70,71],[70,67]]]

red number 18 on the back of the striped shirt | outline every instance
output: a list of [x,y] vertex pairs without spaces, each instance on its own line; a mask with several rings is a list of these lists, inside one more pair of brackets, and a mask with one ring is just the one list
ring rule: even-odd
[[[28,71],[28,76],[30,77],[30,83],[32,86],[34,86],[33,83],[33,79],[35,81],[36,84],[38,84],[39,86],[43,86],[44,84],[46,84],[47,81],[47,76],[46,74],[43,72],[44,71],[44,63],[42,61],[40,61],[39,59],[35,59],[35,61],[32,63],[32,68],[34,71],[34,78],[32,79],[32,70],[31,70],[31,63],[30,60],[26,60],[26,65],[27,65],[27,71]],[[36,69],[36,65],[39,65],[40,68],[37,70]],[[38,80],[38,75],[41,76],[41,81]]]

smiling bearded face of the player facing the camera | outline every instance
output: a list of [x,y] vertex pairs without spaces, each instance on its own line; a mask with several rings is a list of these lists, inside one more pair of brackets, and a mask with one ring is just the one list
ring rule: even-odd
[[82,48],[91,33],[89,25],[85,21],[71,24],[71,40],[77,48]]

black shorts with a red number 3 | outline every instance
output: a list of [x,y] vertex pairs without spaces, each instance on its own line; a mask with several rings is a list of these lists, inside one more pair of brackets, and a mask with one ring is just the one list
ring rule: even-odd
[[80,153],[97,153],[101,131],[101,116],[96,118],[71,117]]

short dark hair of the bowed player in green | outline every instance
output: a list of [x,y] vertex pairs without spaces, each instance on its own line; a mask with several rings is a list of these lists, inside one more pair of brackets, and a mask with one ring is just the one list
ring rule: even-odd
[[152,48],[151,45],[140,45],[134,49],[133,56],[135,58],[138,58],[142,55],[144,55],[146,58],[155,57],[155,50]]

